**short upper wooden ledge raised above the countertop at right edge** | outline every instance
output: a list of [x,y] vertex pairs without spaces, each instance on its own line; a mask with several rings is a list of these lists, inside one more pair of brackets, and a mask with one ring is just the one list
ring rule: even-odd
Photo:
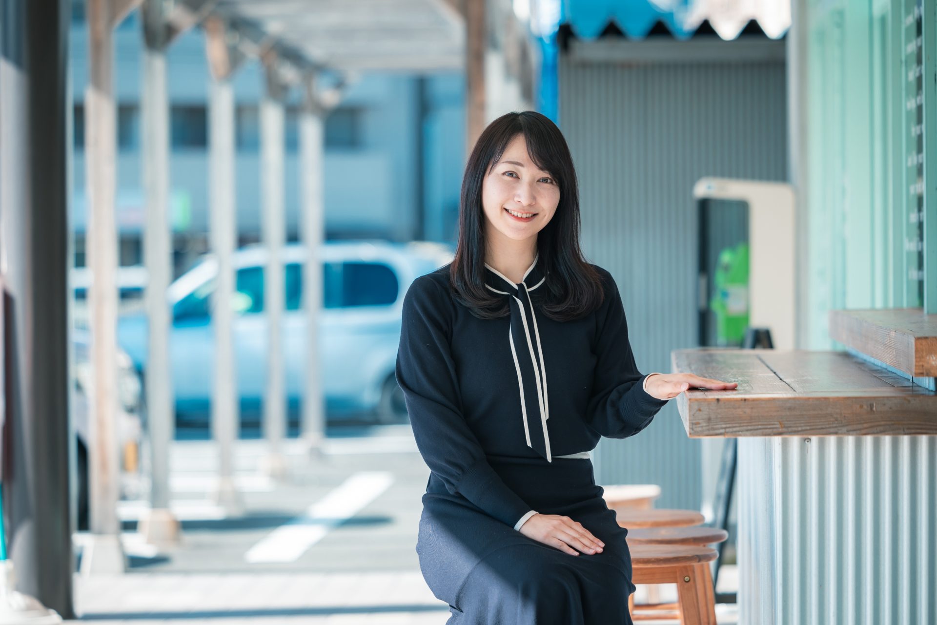
[[830,310],[829,335],[908,375],[937,376],[937,315],[922,308]]

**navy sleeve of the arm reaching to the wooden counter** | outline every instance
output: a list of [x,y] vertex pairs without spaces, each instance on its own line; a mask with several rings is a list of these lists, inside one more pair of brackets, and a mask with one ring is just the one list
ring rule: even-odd
[[605,299],[596,313],[597,361],[587,423],[604,437],[625,439],[647,427],[667,400],[645,390],[647,376],[634,364],[628,322],[615,279],[605,270],[600,271],[605,281]]

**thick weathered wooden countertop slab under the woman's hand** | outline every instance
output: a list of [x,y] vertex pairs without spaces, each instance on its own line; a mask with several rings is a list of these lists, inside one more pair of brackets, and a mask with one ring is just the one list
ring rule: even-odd
[[699,348],[671,364],[738,382],[677,397],[691,438],[937,435],[937,393],[847,352]]

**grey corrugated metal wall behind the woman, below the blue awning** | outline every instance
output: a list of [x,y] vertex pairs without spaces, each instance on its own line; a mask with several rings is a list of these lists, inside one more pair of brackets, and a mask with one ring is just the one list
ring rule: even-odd
[[[588,45],[585,44],[584,45]],[[621,291],[643,372],[697,344],[697,218],[706,175],[786,179],[782,62],[587,63],[560,54],[559,125],[580,180],[587,258]],[[700,443],[671,402],[638,439],[603,439],[596,479],[661,484],[699,508]]]

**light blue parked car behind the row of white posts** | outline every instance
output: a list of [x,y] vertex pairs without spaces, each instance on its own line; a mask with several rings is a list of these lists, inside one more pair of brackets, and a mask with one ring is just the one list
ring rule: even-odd
[[[429,242],[329,241],[319,252],[322,310],[320,371],[327,415],[405,423],[407,408],[394,377],[404,294],[410,283],[453,259],[451,246]],[[267,318],[263,274],[268,252],[249,246],[234,253],[233,322],[242,423],[260,422],[266,385]],[[305,247],[284,247],[286,310],[281,334],[290,420],[298,421],[305,368],[302,284]],[[211,305],[217,262],[206,255],[168,290],[172,306],[171,376],[179,424],[208,424],[214,386],[215,334]],[[146,317],[123,316],[118,341],[145,372]]]

